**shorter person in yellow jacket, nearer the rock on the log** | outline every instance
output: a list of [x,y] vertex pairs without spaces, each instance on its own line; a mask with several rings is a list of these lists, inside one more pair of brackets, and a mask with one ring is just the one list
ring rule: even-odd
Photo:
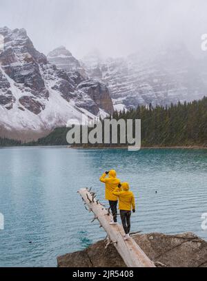
[[113,194],[119,198],[121,222],[126,233],[124,240],[128,240],[130,238],[130,217],[132,211],[135,213],[135,196],[133,192],[130,191],[128,183],[122,183],[121,188],[117,187],[117,189],[113,191]]

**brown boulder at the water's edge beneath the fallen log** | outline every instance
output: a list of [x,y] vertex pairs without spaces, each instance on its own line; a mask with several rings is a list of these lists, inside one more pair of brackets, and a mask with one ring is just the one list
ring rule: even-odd
[[[207,242],[193,233],[150,233],[134,239],[157,267],[207,267]],[[126,267],[112,244],[106,249],[106,240],[61,256],[57,263],[59,267]]]

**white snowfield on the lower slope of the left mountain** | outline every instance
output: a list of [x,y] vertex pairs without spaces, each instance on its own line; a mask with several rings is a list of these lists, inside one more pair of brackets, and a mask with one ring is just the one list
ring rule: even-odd
[[[57,94],[55,90],[52,90],[54,83],[46,82],[46,89],[50,92],[48,100],[43,102],[42,110],[39,114],[34,114],[30,110],[23,110],[19,99],[28,93],[21,92],[19,88],[14,84],[14,81],[0,68],[3,76],[8,79],[10,83],[10,91],[12,92],[16,102],[13,103],[12,109],[7,110],[5,107],[0,107],[0,116],[3,116],[3,125],[6,129],[31,129],[31,130],[43,130],[52,129],[55,127],[64,126],[70,119],[77,119],[80,123],[87,118],[96,118],[87,110],[81,110],[75,107],[75,103],[68,102],[61,95]],[[29,94],[32,96],[32,94]],[[41,98],[37,98],[37,101],[42,102]],[[84,114],[84,116],[83,116]]]

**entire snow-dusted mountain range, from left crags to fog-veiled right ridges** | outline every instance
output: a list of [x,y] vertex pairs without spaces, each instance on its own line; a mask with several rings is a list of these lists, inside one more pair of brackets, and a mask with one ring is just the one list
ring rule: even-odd
[[82,115],[92,119],[207,95],[207,64],[184,44],[170,45],[147,59],[139,52],[115,59],[92,52],[78,60],[63,46],[42,54],[24,29],[0,28],[0,34],[3,136],[39,136]]

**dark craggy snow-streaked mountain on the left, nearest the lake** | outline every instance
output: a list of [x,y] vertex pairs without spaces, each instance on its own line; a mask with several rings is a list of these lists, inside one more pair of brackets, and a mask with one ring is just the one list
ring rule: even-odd
[[81,120],[83,114],[95,118],[113,112],[108,87],[84,78],[77,72],[78,63],[77,69],[67,70],[52,65],[34,48],[24,29],[0,28],[0,34],[4,39],[0,50],[1,136],[14,131],[46,132],[66,125],[71,118]]

